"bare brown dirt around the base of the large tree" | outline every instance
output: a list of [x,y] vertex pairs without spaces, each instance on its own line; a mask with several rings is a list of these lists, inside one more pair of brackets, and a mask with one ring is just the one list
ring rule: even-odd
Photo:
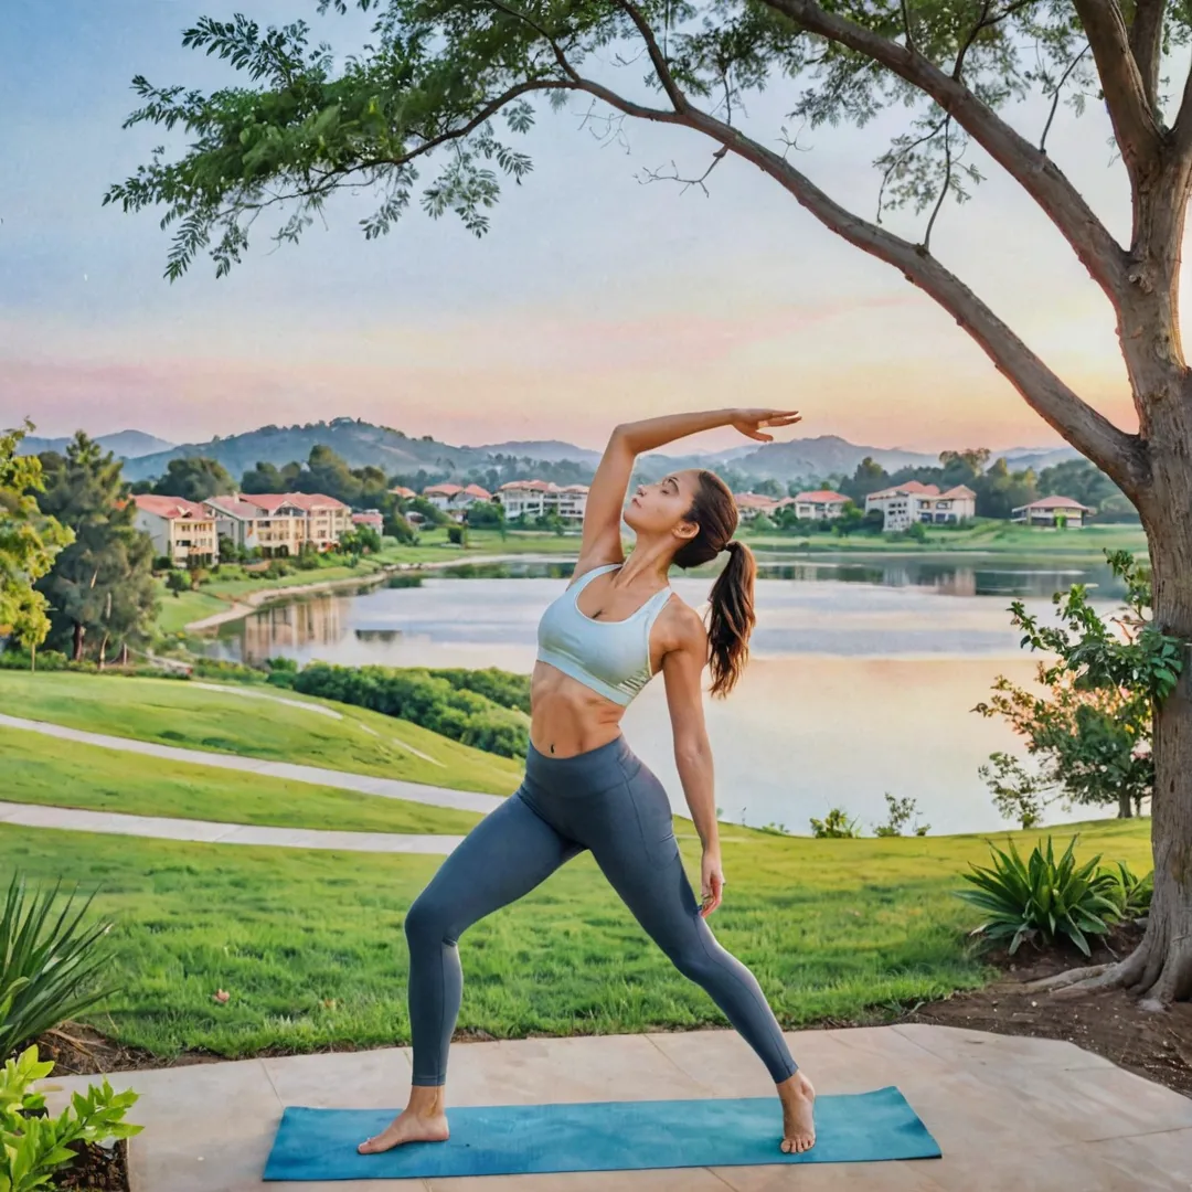
[[1037,951],[1025,945],[1017,956],[991,954],[1002,977],[973,993],[955,993],[917,1007],[902,1022],[964,1026],[998,1035],[1067,1039],[1112,1060],[1130,1072],[1192,1097],[1192,1005],[1163,1013],[1141,1010],[1120,989],[1055,997],[1023,986],[1081,964],[1103,964],[1129,955],[1141,938],[1137,929],[1115,932],[1086,960],[1075,949]]

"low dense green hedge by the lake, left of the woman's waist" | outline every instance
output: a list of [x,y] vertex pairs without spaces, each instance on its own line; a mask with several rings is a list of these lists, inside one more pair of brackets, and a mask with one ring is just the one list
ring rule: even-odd
[[[447,675],[455,675],[459,685]],[[516,676],[501,671],[443,671],[392,666],[331,666],[312,663],[293,672],[275,671],[269,681],[303,695],[337,700],[360,708],[401,716],[432,732],[502,757],[522,757],[529,745],[529,725],[522,712],[464,685],[476,676],[492,691],[510,694]],[[527,681],[528,682],[528,681]],[[528,695],[527,695],[528,700]]]

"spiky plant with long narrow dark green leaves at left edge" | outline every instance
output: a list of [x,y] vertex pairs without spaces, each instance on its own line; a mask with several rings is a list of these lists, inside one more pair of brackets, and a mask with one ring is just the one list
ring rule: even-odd
[[107,923],[86,924],[88,898],[70,894],[55,917],[62,883],[27,892],[13,877],[0,913],[0,1061],[23,1043],[75,1018],[112,993],[97,979],[111,962]]

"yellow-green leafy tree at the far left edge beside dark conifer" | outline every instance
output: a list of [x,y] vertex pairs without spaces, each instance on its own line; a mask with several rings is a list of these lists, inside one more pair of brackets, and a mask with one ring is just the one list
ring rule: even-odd
[[50,621],[45,596],[33,585],[70,545],[70,532],[37,507],[45,488],[42,461],[17,454],[26,433],[0,432],[0,638],[13,638],[36,657]]

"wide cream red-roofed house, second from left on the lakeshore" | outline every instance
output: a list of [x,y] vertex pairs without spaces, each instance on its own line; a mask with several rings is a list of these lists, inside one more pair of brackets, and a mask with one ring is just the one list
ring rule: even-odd
[[237,492],[211,497],[205,507],[223,538],[267,557],[299,554],[305,542],[330,550],[352,526],[352,510],[319,492]]

